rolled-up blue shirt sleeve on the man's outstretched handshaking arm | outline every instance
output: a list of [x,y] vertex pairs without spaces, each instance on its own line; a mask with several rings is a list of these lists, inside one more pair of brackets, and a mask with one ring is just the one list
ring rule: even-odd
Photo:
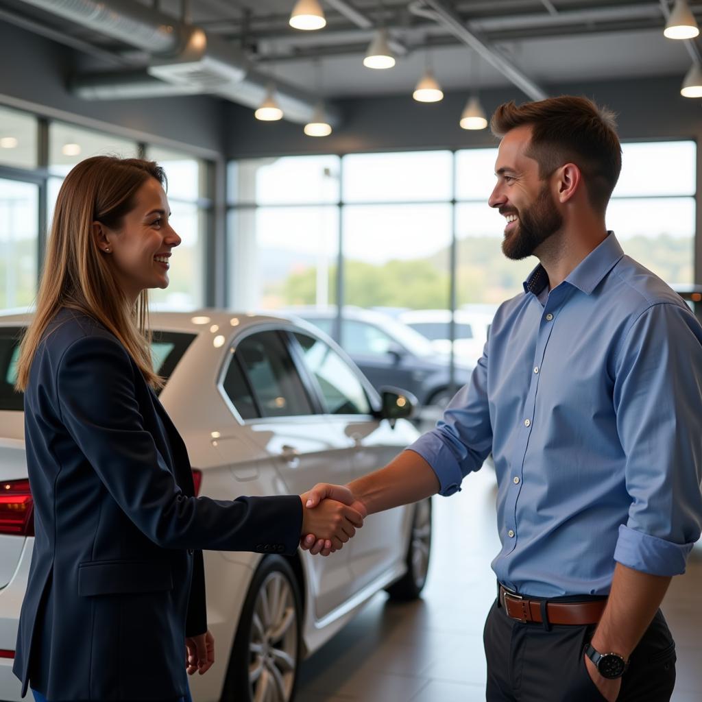
[[458,390],[436,427],[408,447],[432,467],[439,494],[445,497],[461,489],[463,478],[478,470],[491,450],[487,348],[486,344],[470,381]]

